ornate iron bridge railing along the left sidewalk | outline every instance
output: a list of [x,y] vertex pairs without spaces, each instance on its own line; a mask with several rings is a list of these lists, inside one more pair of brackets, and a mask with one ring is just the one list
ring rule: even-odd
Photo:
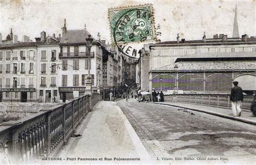
[[0,124],[0,155],[7,157],[8,162],[36,161],[55,155],[100,100],[97,93],[81,96]]

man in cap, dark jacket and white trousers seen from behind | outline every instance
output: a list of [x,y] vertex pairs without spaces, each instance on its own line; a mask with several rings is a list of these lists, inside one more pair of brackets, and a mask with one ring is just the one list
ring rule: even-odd
[[234,87],[231,89],[230,101],[232,105],[233,117],[241,116],[241,104],[244,100],[244,95],[242,95],[242,88],[238,87],[238,82],[233,82]]

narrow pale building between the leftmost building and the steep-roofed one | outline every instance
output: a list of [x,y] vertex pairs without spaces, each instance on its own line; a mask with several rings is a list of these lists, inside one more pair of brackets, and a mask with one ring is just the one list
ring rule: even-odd
[[59,37],[55,37],[41,32],[41,37],[36,38],[37,41],[37,89],[38,89],[38,102],[52,103],[55,97],[56,101],[59,100],[59,92],[57,87],[57,80],[61,77],[58,75],[60,70],[60,60],[58,58]]

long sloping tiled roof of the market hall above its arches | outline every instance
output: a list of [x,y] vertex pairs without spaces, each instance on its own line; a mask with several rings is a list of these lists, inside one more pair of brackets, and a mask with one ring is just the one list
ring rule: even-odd
[[256,70],[256,61],[179,61],[152,71]]

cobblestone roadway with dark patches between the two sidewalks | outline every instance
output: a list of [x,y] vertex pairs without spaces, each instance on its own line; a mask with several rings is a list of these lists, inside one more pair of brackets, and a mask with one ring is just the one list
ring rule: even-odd
[[178,107],[138,103],[135,99],[123,99],[117,104],[149,154],[157,159],[255,159],[253,125]]

